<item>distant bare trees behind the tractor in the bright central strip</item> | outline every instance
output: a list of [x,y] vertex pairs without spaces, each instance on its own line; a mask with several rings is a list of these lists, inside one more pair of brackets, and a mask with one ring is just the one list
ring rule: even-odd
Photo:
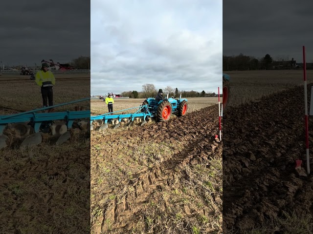
[[[180,93],[181,97],[184,98],[200,98],[200,97],[214,97],[216,94],[213,92],[205,92],[202,90],[201,92],[197,91],[179,91],[178,88],[172,88],[171,86],[166,86],[165,88],[162,88],[163,91],[163,97],[166,97],[167,92],[168,96],[179,98]],[[156,86],[154,84],[144,84],[142,85],[141,91],[125,91],[122,92],[121,95],[123,97],[129,97],[129,98],[155,98],[158,93],[158,89],[156,89]]]

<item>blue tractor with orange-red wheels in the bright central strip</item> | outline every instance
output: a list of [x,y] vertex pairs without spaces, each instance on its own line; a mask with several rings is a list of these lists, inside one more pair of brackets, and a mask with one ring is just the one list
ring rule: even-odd
[[156,101],[155,98],[147,98],[142,103],[142,106],[148,105],[147,110],[146,107],[141,109],[141,112],[147,113],[150,112],[154,117],[156,117],[156,121],[167,121],[171,118],[172,114],[176,114],[177,116],[185,116],[187,113],[187,99],[181,98],[181,94],[178,98],[168,98],[168,94],[166,98]]

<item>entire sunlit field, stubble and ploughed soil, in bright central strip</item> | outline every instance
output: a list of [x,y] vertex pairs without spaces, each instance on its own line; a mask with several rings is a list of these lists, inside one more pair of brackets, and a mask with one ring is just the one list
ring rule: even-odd
[[[113,111],[144,99],[114,99]],[[91,132],[91,233],[222,233],[218,98],[167,122]],[[102,100],[91,113],[104,114]]]

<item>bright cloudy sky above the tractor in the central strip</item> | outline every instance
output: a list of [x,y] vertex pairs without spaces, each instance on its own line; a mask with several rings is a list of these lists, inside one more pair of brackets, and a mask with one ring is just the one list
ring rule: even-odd
[[217,93],[222,0],[92,0],[91,94],[145,83]]

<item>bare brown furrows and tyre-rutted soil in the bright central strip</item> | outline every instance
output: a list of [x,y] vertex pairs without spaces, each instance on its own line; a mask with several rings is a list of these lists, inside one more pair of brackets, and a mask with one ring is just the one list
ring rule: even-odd
[[[159,163],[154,163],[150,167],[141,170],[134,175],[134,179],[125,181],[124,188],[115,188],[122,190],[122,196],[117,199],[115,197],[103,211],[103,215],[99,217],[101,226],[93,233],[131,233],[135,228],[154,233],[177,233],[174,224],[169,223],[166,228],[161,227],[158,221],[149,221],[149,214],[158,217],[159,220],[164,218],[164,214],[175,206],[181,206],[175,201],[177,194],[183,194],[181,185],[186,181],[192,181],[187,170],[188,165],[197,163],[210,167],[210,159],[214,156],[222,155],[222,144],[215,141],[215,135],[218,134],[218,107],[216,105],[202,109],[199,112],[193,112],[185,117],[180,117],[172,121],[157,123],[153,125],[144,125],[135,129],[125,130],[122,139],[112,139],[112,145],[118,142],[125,142],[124,139],[137,138],[138,144],[153,143],[173,143],[176,141],[185,142],[183,149],[177,151],[174,155],[162,155]],[[101,139],[91,137],[91,144],[101,143]],[[112,156],[112,149],[107,149]],[[130,147],[131,150],[131,147]],[[92,162],[91,162],[92,164]],[[91,187],[95,182],[91,182]],[[177,194],[168,193],[164,199],[164,193],[176,189]],[[114,193],[112,189],[110,192]],[[195,191],[194,191],[195,192]],[[182,204],[182,216],[188,217],[190,220],[196,218],[197,214],[204,216],[217,216],[217,207],[209,205],[200,188],[200,196],[193,201],[194,205]],[[100,196],[100,195],[99,195]],[[97,200],[97,198],[95,200]],[[217,204],[222,206],[220,195],[212,193],[213,199]],[[205,207],[200,209],[197,203],[203,202]],[[149,204],[156,204],[154,210]],[[112,220],[113,222],[106,222]],[[221,219],[219,219],[221,222]],[[164,224],[164,223],[163,223]],[[181,223],[180,230],[190,232],[190,223]],[[175,226],[175,225],[174,225]],[[183,227],[184,226],[184,227]],[[206,227],[206,231],[217,231],[217,228]],[[204,230],[203,230],[204,231]]]

